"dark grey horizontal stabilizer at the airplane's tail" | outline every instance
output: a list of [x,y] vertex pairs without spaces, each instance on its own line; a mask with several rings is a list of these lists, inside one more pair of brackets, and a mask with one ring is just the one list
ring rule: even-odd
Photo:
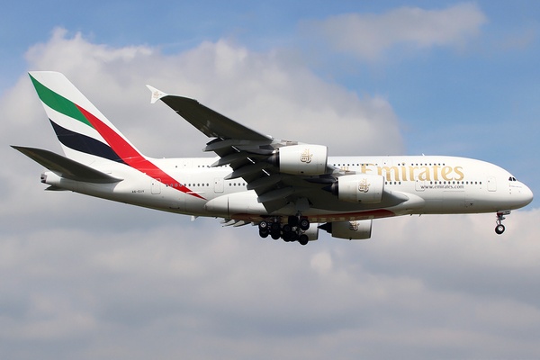
[[12,148],[21,151],[27,157],[36,161],[50,171],[70,180],[82,181],[85,183],[111,184],[121,182],[122,179],[112,177],[98,171],[90,166],[77,163],[67,157],[62,157],[52,151],[42,148],[26,148],[12,146]]

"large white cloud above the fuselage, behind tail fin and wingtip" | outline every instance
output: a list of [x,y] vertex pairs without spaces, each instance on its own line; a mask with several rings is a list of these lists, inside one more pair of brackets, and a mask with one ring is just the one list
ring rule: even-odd
[[163,103],[150,105],[148,83],[196,98],[277,139],[328,145],[330,154],[396,154],[403,148],[398,120],[383,97],[360,97],[272,51],[256,53],[220,40],[164,55],[147,47],[113,49],[80,34],[68,38],[58,29],[27,58],[33,69],[65,73],[151,156],[203,156],[208,139]]

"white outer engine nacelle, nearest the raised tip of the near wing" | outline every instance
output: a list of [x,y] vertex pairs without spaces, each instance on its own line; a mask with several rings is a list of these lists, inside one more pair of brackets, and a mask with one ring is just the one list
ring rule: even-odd
[[292,175],[322,175],[326,173],[329,148],[322,145],[292,145],[279,148],[279,171]]

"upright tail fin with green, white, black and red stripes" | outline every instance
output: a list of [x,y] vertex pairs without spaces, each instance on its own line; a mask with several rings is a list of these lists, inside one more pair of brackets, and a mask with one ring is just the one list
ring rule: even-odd
[[66,76],[53,71],[29,75],[68,158],[82,164],[98,159],[126,164],[143,158]]

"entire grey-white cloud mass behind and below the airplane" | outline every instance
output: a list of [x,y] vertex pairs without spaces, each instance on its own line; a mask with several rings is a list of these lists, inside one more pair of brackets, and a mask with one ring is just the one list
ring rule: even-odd
[[[57,31],[28,61],[65,72],[154,156],[198,156],[206,139],[150,105],[146,83],[336,153],[401,150],[388,102],[329,85],[275,52],[221,40],[164,55]],[[0,139],[58,149],[25,84],[1,99]],[[301,247],[252,227],[45,193],[39,166],[11,148],[1,156],[2,358],[538,354],[538,210],[510,215],[502,237],[492,214],[422,216],[375,220],[369,241],[321,234]]]

